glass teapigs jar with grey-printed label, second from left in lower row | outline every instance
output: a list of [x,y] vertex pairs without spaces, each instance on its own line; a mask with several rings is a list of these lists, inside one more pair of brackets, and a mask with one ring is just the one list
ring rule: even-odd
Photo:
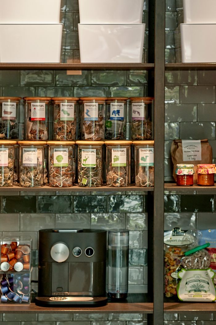
[[20,145],[19,186],[43,186],[46,141],[18,141],[18,144]]

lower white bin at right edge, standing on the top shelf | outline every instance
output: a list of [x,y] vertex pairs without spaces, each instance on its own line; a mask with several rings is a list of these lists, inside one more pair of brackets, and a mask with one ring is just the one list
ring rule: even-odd
[[216,24],[180,24],[183,63],[216,62]]

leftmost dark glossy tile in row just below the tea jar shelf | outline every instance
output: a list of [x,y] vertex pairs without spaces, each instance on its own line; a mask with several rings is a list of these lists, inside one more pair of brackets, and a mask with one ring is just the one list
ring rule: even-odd
[[36,212],[36,196],[3,196],[3,213],[34,213]]

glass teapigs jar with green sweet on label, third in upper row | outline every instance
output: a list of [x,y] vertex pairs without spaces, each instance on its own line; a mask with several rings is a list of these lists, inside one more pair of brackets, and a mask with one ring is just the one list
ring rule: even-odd
[[77,97],[53,97],[53,139],[76,140]]

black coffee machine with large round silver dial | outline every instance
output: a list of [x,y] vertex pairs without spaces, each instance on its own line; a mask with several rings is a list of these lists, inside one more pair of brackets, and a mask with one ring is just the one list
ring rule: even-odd
[[106,260],[105,230],[40,230],[36,305],[105,305]]

